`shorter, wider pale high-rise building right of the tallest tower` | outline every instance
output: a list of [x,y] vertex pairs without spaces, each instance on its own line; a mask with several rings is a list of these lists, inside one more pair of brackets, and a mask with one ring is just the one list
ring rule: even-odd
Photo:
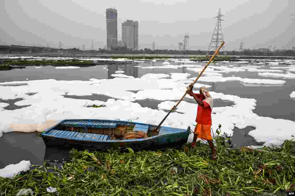
[[122,43],[128,49],[138,50],[138,21],[122,23]]

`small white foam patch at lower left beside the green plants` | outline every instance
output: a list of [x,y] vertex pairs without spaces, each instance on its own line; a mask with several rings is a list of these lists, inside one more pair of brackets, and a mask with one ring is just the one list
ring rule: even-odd
[[17,164],[10,164],[4,167],[3,169],[0,169],[0,177],[8,177],[12,178],[14,175],[16,175],[18,172],[21,171],[28,171],[30,170],[31,162],[22,160],[21,162]]

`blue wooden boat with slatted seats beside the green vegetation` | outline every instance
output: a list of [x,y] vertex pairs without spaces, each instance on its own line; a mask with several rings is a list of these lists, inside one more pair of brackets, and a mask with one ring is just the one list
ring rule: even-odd
[[[127,148],[133,150],[176,147],[188,140],[190,127],[178,129],[121,120],[75,119],[62,120],[43,132],[47,147],[70,147],[88,150]],[[124,139],[126,133],[139,131],[146,138]],[[133,132],[134,133],[134,132]]]

